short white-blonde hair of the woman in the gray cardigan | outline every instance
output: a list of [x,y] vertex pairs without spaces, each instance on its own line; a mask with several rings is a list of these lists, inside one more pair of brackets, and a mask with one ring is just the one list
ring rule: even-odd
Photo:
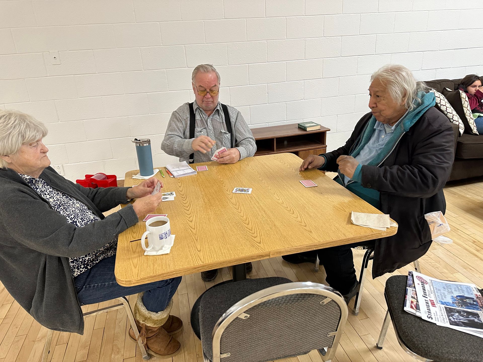
[[[13,155],[23,144],[44,138],[47,132],[47,127],[31,115],[0,110],[0,155]],[[3,158],[0,158],[0,167],[8,167]]]

